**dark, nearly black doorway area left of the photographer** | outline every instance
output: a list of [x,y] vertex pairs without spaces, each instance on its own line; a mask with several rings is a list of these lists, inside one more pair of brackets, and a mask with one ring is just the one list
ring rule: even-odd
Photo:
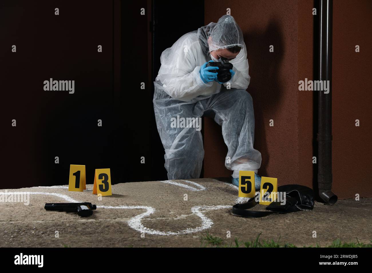
[[[0,22],[1,188],[66,185],[70,164],[86,165],[87,183],[99,168],[112,184],[167,178],[153,80],[161,52],[203,25],[203,1],[6,0]],[[44,90],[50,78],[74,80],[74,94]]]

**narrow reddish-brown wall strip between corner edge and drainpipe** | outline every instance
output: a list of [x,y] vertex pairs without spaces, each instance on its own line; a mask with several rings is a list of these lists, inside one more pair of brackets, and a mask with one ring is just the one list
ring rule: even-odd
[[[295,14],[298,24],[298,76],[296,92],[298,98],[298,157],[299,162],[299,180],[298,184],[306,185],[314,190],[317,188],[318,165],[312,163],[312,157],[317,156],[317,96],[314,91],[298,91],[298,81],[304,81],[305,78],[317,79],[318,68],[314,69],[314,54],[317,54],[317,42],[314,45],[314,22],[318,17],[312,15],[314,7],[313,1],[298,1],[298,13]],[[318,27],[316,25],[315,27]],[[317,32],[316,32],[317,33]],[[315,48],[314,48],[315,46]],[[314,52],[314,50],[316,52]],[[316,57],[318,58],[318,57]],[[315,109],[315,110],[314,110]],[[315,116],[314,116],[315,111]],[[315,118],[315,119],[314,119]]]

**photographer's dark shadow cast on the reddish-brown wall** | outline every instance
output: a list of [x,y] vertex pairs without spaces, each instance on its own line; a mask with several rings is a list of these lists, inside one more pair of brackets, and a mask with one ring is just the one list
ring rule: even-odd
[[[274,45],[276,52],[283,52],[283,36],[277,20],[270,20],[264,32],[253,31],[243,33],[247,46],[249,74],[251,81],[248,92],[253,98],[255,117],[254,148],[262,155],[260,176],[267,175],[267,165],[270,160],[266,143],[266,129],[270,118],[282,109],[278,109],[282,84],[279,78],[283,54],[269,52],[269,46]],[[264,114],[265,113],[265,114]]]

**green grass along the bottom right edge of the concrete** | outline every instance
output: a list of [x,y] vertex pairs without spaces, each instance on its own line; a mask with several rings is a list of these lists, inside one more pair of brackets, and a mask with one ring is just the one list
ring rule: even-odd
[[[212,247],[296,247],[294,244],[289,243],[280,243],[280,237],[278,241],[272,240],[261,240],[260,239],[261,233],[257,236],[255,240],[241,242],[237,238],[235,238],[234,242],[230,244],[224,243],[221,237],[212,236],[209,234],[209,230],[206,231],[205,234],[201,235],[201,244],[204,247],[212,246]],[[321,247],[318,243],[315,246],[304,246],[304,247]],[[324,247],[372,247],[372,240],[371,243],[359,243],[359,240],[356,238],[356,242],[351,243],[342,243],[339,239],[334,240],[330,246],[325,245]]]

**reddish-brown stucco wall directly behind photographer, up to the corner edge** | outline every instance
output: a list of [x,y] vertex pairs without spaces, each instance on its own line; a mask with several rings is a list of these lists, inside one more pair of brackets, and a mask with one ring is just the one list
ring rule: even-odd
[[[248,51],[254,146],[262,153],[259,174],[278,178],[280,185],[298,183],[297,3],[207,0],[205,23],[217,22],[227,8],[243,31]],[[269,52],[270,45],[274,52]],[[230,175],[224,167],[227,148],[221,128],[206,119],[204,129],[204,177]]]

